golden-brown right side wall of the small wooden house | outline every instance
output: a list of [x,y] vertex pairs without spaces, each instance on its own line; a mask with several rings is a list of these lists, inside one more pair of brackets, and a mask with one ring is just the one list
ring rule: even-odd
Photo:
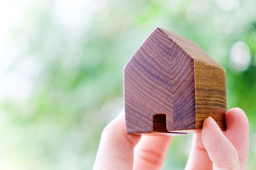
[[225,71],[211,63],[195,60],[196,128],[202,128],[205,118],[212,117],[225,130]]

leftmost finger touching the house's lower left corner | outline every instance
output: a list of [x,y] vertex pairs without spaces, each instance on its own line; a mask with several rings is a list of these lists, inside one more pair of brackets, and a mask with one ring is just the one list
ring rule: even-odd
[[93,169],[132,169],[133,148],[140,136],[126,134],[124,113],[103,130]]

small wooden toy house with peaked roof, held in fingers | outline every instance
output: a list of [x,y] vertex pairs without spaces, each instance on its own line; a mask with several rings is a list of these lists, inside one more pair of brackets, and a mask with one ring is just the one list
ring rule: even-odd
[[198,45],[157,28],[124,67],[128,134],[202,129],[212,117],[225,130],[225,69]]

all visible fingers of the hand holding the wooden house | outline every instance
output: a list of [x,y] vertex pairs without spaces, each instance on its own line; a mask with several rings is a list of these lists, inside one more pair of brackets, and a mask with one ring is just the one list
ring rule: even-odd
[[[193,134],[185,169],[246,169],[249,152],[248,119],[243,110],[226,114],[227,131],[211,118],[202,133]],[[125,133],[124,113],[103,130],[93,169],[161,169],[172,136],[139,136]]]

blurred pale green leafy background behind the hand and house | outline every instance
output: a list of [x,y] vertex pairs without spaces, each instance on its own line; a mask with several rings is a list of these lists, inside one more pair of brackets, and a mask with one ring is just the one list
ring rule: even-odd
[[[0,1],[0,169],[92,169],[100,132],[123,108],[124,64],[156,27],[225,67],[256,169],[255,0]],[[184,169],[190,144],[175,137],[163,169]]]

